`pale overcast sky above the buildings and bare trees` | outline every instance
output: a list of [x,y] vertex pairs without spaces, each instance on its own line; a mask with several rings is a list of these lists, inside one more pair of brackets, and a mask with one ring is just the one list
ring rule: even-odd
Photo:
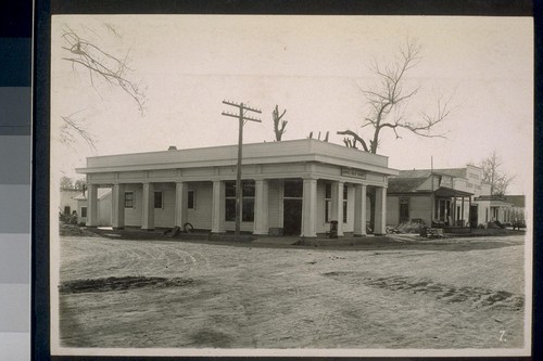
[[[110,25],[116,34],[108,30]],[[134,100],[63,61],[62,31],[119,57],[144,90]],[[376,83],[369,65],[393,61],[408,39],[421,46],[407,74],[420,90],[405,108],[413,121],[443,95],[456,111],[438,129],[446,139],[384,132],[379,153],[396,169],[479,164],[494,150],[516,175],[509,193],[530,193],[533,140],[533,26],[529,17],[432,16],[53,16],[51,57],[52,176],[74,176],[85,157],[237,143],[235,111],[223,100],[261,108],[244,142],[273,141],[272,111],[289,120],[283,140],[361,129],[368,107],[361,89]],[[118,36],[117,36],[118,35]],[[97,139],[70,150],[58,142],[61,116],[74,114]]]

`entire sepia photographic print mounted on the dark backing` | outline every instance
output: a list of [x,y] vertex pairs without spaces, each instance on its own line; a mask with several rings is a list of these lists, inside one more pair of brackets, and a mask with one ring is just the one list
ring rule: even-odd
[[528,356],[531,17],[53,15],[51,353]]

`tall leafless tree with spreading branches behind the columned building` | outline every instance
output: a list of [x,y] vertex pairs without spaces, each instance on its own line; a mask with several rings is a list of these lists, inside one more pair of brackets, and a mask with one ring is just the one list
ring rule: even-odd
[[[406,75],[420,63],[420,50],[418,43],[407,41],[406,46],[400,49],[395,61],[382,65],[374,60],[370,69],[377,79],[377,86],[361,88],[369,107],[359,129],[366,133],[361,136],[351,129],[338,131],[338,134],[346,136],[343,138],[346,146],[356,149],[359,144],[365,152],[377,154],[386,130],[393,131],[396,139],[401,138],[402,131],[425,138],[444,138],[434,130],[450,117],[453,111],[449,104],[450,100],[439,99],[434,114],[419,112],[418,119],[408,119],[405,116],[408,101],[419,92],[418,87],[408,86]],[[371,209],[370,227],[374,228],[375,189],[368,189],[368,197]]]

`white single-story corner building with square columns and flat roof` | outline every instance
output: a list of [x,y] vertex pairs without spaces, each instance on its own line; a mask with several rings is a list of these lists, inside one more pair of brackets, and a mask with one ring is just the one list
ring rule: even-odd
[[[375,233],[386,232],[388,157],[314,139],[244,144],[241,231],[314,237],[366,234],[367,188]],[[87,225],[98,225],[98,190],[112,189],[112,224],[152,230],[235,230],[237,145],[87,158]]]

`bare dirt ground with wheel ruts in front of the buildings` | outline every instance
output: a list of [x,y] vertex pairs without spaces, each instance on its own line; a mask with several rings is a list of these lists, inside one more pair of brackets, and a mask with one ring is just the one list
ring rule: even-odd
[[61,346],[522,347],[523,237],[467,242],[339,250],[62,237]]

